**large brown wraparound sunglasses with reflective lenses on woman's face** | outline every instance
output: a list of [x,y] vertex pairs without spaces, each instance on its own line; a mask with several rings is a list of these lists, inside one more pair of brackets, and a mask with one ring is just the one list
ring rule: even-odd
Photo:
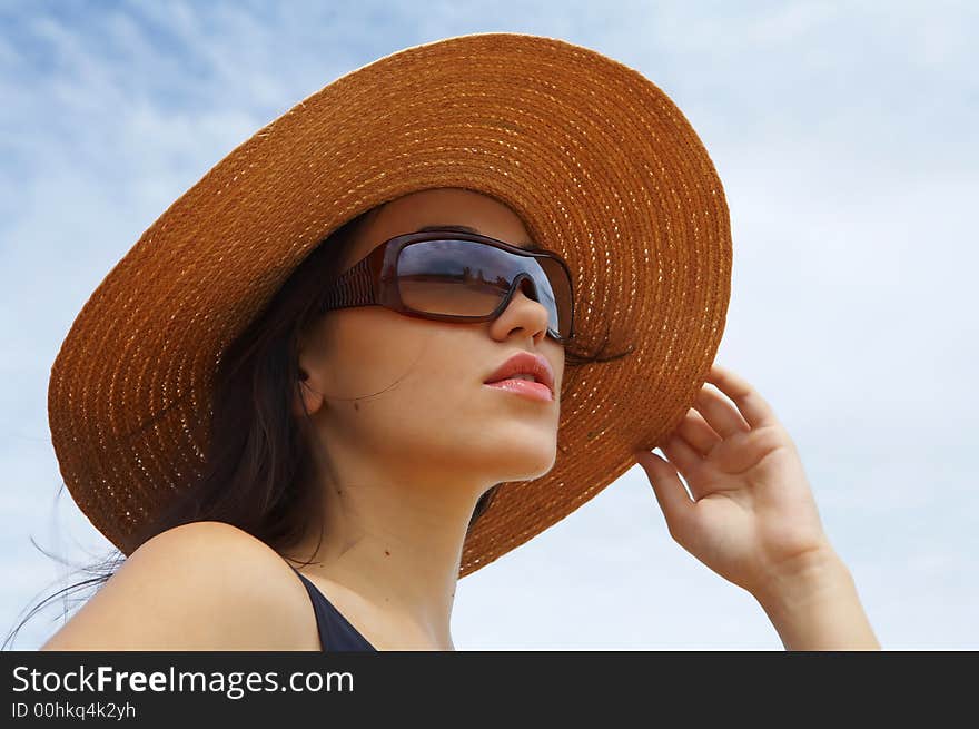
[[547,309],[547,334],[574,336],[574,294],[564,259],[468,233],[409,233],[382,243],[344,272],[320,311],[379,305],[437,322],[490,322],[516,289]]

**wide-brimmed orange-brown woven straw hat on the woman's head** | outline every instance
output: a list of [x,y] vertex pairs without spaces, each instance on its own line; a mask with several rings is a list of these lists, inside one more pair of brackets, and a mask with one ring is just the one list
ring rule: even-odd
[[631,349],[567,373],[554,467],[500,487],[459,577],[576,510],[680,423],[731,289],[728,207],[702,142],[659,87],[593,50],[446,38],[363,66],[259,129],[82,307],[51,368],[49,420],[66,485],[109,541],[131,553],[202,472],[216,362],[305,256],[360,213],[435,187],[510,206],[568,263],[576,342]]

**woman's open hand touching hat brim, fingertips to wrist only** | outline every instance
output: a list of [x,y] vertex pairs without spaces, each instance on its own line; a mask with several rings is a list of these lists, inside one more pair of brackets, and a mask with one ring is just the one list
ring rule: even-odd
[[[833,551],[795,445],[742,377],[713,365],[694,407],[659,445],[636,453],[670,535],[752,594]],[[678,473],[679,470],[679,473]],[[690,486],[688,495],[679,474]]]

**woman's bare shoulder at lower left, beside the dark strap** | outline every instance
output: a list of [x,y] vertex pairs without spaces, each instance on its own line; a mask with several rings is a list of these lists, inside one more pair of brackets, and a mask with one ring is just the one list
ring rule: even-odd
[[147,540],[41,650],[318,650],[289,564],[222,522]]

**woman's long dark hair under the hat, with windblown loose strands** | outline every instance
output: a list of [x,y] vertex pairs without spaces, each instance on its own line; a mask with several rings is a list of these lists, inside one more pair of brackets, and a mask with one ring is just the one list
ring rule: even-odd
[[[322,513],[323,492],[315,483],[312,469],[308,417],[297,418],[291,411],[294,394],[300,386],[298,342],[306,328],[319,318],[318,305],[329,294],[340,273],[340,262],[362,225],[382,207],[353,218],[314,248],[263,312],[225,349],[214,377],[210,440],[201,472],[135,536],[130,553],[168,529],[196,521],[233,524],[283,551],[296,545],[306,534],[308,514]],[[565,348],[565,367],[572,368],[570,374],[574,376],[574,367],[578,365],[617,359],[632,352],[630,347],[602,356],[605,344],[597,352],[585,352],[575,339]],[[469,518],[469,530],[501,485],[494,485],[478,499]],[[58,496],[63,489],[62,482]],[[322,524],[319,538],[322,541]],[[48,556],[68,564],[33,539],[31,542]],[[120,550],[112,550],[106,560],[79,565],[77,571],[93,577],[40,602],[8,633],[0,648],[6,648],[36,612],[60,594],[66,595],[62,617],[67,614],[68,593],[86,585],[100,587],[125,561]]]

